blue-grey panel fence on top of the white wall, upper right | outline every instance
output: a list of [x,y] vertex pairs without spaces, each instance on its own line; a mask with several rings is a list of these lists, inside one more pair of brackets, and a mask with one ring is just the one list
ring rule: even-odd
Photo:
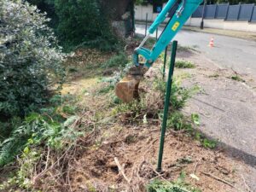
[[205,19],[224,19],[224,20],[246,20],[256,22],[255,4],[210,4],[205,6],[204,15],[203,5],[195,10],[192,17]]

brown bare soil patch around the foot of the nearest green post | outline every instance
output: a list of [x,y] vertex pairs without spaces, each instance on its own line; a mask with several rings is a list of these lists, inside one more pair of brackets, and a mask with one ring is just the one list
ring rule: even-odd
[[[91,143],[73,165],[71,183],[73,191],[144,191],[144,184],[154,178],[176,180],[185,172],[186,182],[202,191],[236,191],[201,172],[211,173],[224,180],[243,187],[241,177],[236,172],[240,162],[230,160],[221,151],[208,150],[182,133],[169,131],[166,135],[162,174],[155,172],[159,148],[159,126],[119,127],[116,125],[106,132],[109,137],[98,138],[101,145]],[[114,162],[117,158],[124,167],[127,183]],[[188,160],[189,159],[189,160]],[[199,181],[190,174],[199,177]],[[101,187],[100,190],[98,187]]]

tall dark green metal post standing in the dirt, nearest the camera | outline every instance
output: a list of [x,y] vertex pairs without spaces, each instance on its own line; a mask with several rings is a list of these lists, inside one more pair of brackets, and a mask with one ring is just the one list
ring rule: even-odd
[[177,50],[177,41],[173,41],[171,64],[169,68],[168,81],[166,85],[166,101],[165,101],[164,117],[162,121],[162,129],[161,129],[161,136],[160,136],[160,149],[159,149],[159,156],[158,156],[157,172],[162,171],[162,160],[163,160],[163,152],[164,152],[164,144],[165,144],[165,136],[166,136],[166,122],[167,122],[171,90],[172,90],[172,75],[174,71],[176,50]]

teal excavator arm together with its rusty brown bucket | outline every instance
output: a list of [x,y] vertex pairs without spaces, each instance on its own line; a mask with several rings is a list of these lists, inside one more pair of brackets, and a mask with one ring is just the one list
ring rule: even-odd
[[[132,55],[133,66],[126,73],[125,77],[115,85],[115,95],[122,102],[131,102],[139,97],[138,86],[143,75],[152,67],[160,53],[166,49],[178,31],[182,28],[195,9],[202,3],[202,0],[169,0],[152,25],[148,28],[147,35],[142,43],[134,50]],[[143,45],[148,38],[156,31],[158,26],[170,17],[165,29],[160,34],[153,46],[153,49],[146,49]],[[140,62],[144,61],[144,63]]]

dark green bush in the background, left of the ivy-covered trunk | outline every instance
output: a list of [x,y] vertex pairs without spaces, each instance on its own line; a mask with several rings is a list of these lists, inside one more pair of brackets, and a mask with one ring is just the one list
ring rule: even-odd
[[56,32],[63,46],[116,49],[118,39],[113,34],[106,7],[100,0],[55,0]]

